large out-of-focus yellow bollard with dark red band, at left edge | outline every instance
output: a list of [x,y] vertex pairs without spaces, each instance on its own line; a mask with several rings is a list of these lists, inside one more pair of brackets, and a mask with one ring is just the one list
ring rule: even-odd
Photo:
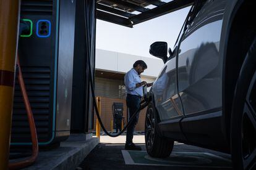
[[12,124],[19,1],[0,0],[0,169],[7,169]]

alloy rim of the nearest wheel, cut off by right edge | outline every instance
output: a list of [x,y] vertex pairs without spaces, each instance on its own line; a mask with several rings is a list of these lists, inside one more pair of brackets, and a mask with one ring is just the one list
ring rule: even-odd
[[244,169],[251,169],[256,161],[256,72],[245,98],[241,140]]

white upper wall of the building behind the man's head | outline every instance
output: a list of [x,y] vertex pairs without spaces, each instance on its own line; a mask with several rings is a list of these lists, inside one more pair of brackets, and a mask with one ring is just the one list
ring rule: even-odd
[[96,69],[119,73],[126,73],[132,68],[136,60],[143,60],[147,63],[148,68],[142,73],[142,76],[147,78],[156,78],[163,67],[163,61],[158,58],[142,57],[102,49],[96,49],[95,60]]

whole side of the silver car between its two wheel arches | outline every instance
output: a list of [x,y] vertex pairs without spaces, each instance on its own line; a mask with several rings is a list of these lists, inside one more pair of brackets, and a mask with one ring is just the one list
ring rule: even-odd
[[182,26],[173,56],[150,90],[163,136],[229,152],[223,76],[231,18],[241,1],[207,0]]

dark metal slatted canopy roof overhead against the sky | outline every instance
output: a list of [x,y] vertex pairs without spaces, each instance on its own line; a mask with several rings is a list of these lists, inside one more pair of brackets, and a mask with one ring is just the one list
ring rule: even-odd
[[132,28],[138,23],[191,6],[194,1],[97,0],[96,18]]

